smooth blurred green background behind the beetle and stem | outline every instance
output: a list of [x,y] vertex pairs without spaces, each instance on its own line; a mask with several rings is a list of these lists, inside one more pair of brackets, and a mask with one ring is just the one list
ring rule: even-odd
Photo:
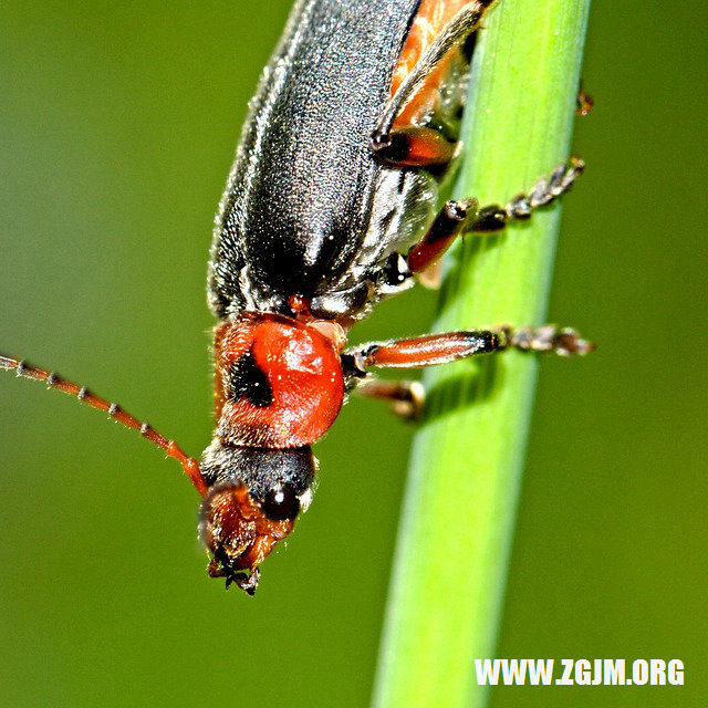
[[[289,6],[0,9],[1,351],[194,454],[212,214]],[[708,700],[707,21],[698,0],[593,2],[550,312],[600,348],[543,363],[497,654],[681,658],[686,686],[499,688],[494,708]],[[407,293],[355,335],[425,332],[434,308]],[[0,705],[367,704],[412,428],[344,409],[251,600],[206,576],[174,462],[42,386],[3,376],[0,402]]]

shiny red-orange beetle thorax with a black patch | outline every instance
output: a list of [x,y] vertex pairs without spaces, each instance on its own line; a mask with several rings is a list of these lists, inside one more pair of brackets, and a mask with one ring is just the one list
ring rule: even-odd
[[344,397],[339,342],[317,323],[243,313],[215,337],[216,437],[225,445],[310,445]]

